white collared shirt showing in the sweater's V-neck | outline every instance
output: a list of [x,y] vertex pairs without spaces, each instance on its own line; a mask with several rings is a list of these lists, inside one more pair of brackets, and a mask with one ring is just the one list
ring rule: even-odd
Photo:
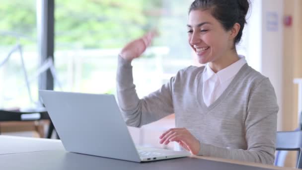
[[229,65],[227,68],[214,73],[209,63],[203,72],[203,98],[205,104],[209,107],[225,91],[227,86],[234,79],[241,67],[246,64],[244,56],[239,55],[239,60]]

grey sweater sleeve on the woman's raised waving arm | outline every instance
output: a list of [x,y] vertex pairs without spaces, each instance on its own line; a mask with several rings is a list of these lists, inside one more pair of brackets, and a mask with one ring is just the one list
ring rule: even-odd
[[174,112],[170,82],[140,99],[133,84],[131,62],[118,56],[117,98],[120,110],[128,126],[141,127]]

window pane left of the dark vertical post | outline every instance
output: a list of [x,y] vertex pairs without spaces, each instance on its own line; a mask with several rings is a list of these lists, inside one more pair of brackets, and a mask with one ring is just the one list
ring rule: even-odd
[[[38,93],[37,79],[32,77],[39,61],[36,0],[1,0],[0,16],[0,108],[31,107]],[[9,52],[12,53],[7,59]],[[30,81],[29,88],[20,54]]]

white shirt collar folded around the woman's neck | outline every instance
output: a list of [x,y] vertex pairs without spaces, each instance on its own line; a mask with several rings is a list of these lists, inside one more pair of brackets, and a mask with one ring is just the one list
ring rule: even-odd
[[207,80],[209,80],[210,78],[212,78],[214,75],[217,75],[220,82],[224,83],[227,80],[229,80],[230,78],[234,77],[239,70],[241,69],[241,67],[243,65],[246,64],[246,60],[245,57],[242,55],[239,55],[239,60],[236,61],[235,63],[227,66],[225,69],[214,73],[213,70],[211,69],[211,67],[209,66],[209,63],[206,65],[206,68],[203,72],[203,82],[206,82]]

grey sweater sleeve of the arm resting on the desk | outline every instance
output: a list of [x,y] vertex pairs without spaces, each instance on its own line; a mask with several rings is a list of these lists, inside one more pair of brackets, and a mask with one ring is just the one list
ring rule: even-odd
[[278,111],[274,88],[269,79],[265,78],[251,89],[248,97],[244,122],[247,150],[222,148],[200,141],[198,155],[274,164]]

